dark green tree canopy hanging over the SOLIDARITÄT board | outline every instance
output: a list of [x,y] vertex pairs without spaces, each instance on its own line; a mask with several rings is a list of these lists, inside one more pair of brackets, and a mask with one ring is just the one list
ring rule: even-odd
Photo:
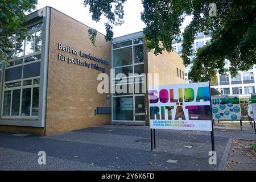
[[[113,26],[123,23],[124,0],[86,0],[92,19],[99,21],[101,15],[109,22],[106,40],[113,38]],[[213,4],[214,3],[214,4]],[[189,78],[193,82],[211,81],[216,73],[246,71],[256,64],[256,1],[254,0],[142,0],[144,11],[141,19],[146,24],[144,38],[149,50],[155,55],[164,50],[172,51],[172,40],[181,41],[180,26],[185,16],[192,16],[191,23],[183,33],[182,58],[184,65],[192,63],[192,43],[198,32],[212,36],[206,46],[197,50]],[[216,5],[217,14],[212,14]],[[114,7],[114,8],[113,8]],[[90,30],[90,39],[96,40],[97,30]],[[93,34],[92,34],[93,33]],[[225,59],[230,61],[226,70]]]

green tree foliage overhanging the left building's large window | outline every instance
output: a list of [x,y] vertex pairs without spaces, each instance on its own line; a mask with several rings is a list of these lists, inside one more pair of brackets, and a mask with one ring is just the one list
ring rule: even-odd
[[13,54],[13,44],[9,38],[19,35],[24,40],[27,28],[24,27],[26,22],[26,13],[34,10],[37,0],[0,0],[0,60],[5,62],[5,56]]

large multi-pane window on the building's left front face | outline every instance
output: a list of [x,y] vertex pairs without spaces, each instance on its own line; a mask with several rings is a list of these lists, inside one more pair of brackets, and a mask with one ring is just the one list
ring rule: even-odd
[[38,117],[42,26],[27,28],[25,40],[10,39],[11,52],[6,55],[10,65],[5,69],[2,117]]

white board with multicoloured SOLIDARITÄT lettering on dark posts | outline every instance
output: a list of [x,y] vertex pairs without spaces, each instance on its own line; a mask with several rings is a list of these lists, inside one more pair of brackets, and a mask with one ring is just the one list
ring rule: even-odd
[[150,128],[212,131],[209,82],[149,88]]

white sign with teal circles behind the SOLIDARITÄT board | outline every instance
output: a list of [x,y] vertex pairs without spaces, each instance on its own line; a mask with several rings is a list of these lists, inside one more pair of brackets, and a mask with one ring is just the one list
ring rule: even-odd
[[212,96],[213,119],[240,120],[241,106],[238,96]]

